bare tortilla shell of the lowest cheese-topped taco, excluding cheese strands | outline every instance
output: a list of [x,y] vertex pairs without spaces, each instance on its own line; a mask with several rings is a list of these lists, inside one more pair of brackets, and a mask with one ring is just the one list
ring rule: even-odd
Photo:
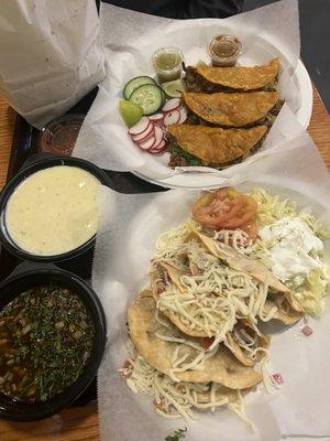
[[[170,322],[168,322],[169,327],[160,324],[155,319],[155,311],[156,304],[153,298],[139,297],[129,309],[130,335],[138,352],[144,359],[155,369],[169,375],[174,351],[177,345],[183,346],[183,344],[161,340],[155,333],[166,335],[172,333],[173,336],[186,340],[188,337],[180,333]],[[197,344],[199,343],[197,338],[190,337],[189,340]],[[198,354],[190,346],[185,346],[185,349],[189,353],[190,359],[194,359]],[[224,345],[219,345],[218,352],[206,359],[204,366],[202,370],[186,370],[175,375],[180,381],[213,381],[220,383],[230,389],[253,387],[262,379],[260,373],[242,366]]]

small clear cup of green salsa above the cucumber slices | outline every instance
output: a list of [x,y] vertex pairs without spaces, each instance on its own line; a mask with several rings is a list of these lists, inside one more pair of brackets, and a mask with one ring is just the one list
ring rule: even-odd
[[152,55],[152,64],[160,83],[179,79],[183,72],[184,55],[177,47],[161,47]]

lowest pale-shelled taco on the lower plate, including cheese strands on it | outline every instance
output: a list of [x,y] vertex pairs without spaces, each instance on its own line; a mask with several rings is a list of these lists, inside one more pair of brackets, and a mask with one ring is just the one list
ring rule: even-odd
[[130,306],[129,331],[142,357],[177,381],[213,381],[245,389],[262,380],[260,373],[243,366],[224,345],[207,353],[200,338],[183,334],[165,316],[157,320],[153,297],[139,297]]

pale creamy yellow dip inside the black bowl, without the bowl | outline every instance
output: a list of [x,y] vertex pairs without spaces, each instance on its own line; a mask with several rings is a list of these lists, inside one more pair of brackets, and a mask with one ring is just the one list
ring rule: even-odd
[[97,232],[99,186],[92,174],[77,166],[56,165],[32,174],[6,207],[11,239],[38,256],[79,247]]

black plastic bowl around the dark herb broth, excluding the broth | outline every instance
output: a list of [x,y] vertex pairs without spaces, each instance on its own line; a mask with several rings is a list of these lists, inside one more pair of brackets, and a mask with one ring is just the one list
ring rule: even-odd
[[101,363],[107,338],[105,312],[95,291],[78,276],[59,269],[34,269],[13,276],[0,283],[0,311],[22,292],[50,283],[70,290],[85,304],[95,326],[90,357],[75,383],[45,401],[23,402],[0,392],[0,418],[33,421],[57,413],[84,392]]

